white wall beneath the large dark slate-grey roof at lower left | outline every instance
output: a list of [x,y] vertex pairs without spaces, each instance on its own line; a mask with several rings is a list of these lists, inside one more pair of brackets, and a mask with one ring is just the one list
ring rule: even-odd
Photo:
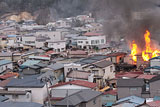
[[32,102],[43,104],[47,97],[46,85],[43,88],[8,88],[8,91],[26,91],[30,90],[32,95]]

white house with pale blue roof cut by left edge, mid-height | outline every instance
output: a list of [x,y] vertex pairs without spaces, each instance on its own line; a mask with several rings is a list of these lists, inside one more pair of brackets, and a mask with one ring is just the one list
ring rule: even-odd
[[0,73],[3,73],[7,69],[13,69],[13,64],[9,60],[0,60]]

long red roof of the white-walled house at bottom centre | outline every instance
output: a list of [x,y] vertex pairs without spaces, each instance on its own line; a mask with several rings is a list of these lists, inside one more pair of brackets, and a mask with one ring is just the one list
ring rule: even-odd
[[82,81],[82,80],[73,80],[69,82],[64,82],[64,83],[58,83],[56,85],[51,86],[50,88],[54,87],[59,87],[67,84],[73,84],[73,85],[78,85],[78,86],[83,86],[83,87],[88,87],[88,88],[95,88],[97,86],[96,83],[88,82],[88,81]]

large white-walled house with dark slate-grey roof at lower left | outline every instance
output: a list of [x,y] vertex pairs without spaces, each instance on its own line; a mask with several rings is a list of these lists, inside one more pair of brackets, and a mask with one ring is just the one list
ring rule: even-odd
[[[30,92],[31,102],[43,104],[47,97],[47,86],[44,81],[37,78],[38,75],[26,76],[22,77],[22,79],[14,78],[5,87],[8,91],[21,91],[24,94]],[[26,97],[28,97],[28,94],[26,94]],[[14,98],[17,101],[26,101],[26,99],[21,99],[17,96]]]

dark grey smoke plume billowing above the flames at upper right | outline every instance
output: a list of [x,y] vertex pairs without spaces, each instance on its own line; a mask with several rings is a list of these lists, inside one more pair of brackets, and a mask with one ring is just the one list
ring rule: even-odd
[[125,37],[128,41],[135,40],[143,49],[143,35],[148,29],[152,39],[160,40],[158,0],[95,0],[95,4],[100,6],[96,15],[106,20],[104,32],[107,39]]

